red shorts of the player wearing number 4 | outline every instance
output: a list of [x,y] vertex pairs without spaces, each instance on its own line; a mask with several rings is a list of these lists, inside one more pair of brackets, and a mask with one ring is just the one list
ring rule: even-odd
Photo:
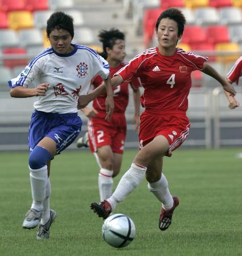
[[139,147],[140,149],[158,135],[163,135],[169,142],[168,156],[180,147],[189,134],[190,122],[183,111],[168,111],[154,114],[145,110],[140,116]]

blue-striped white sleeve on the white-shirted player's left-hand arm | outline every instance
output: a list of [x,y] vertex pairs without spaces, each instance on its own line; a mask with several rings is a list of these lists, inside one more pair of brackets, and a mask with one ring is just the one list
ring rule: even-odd
[[36,61],[32,64],[31,61],[26,68],[18,75],[18,77],[9,81],[9,87],[14,88],[16,86],[28,87],[32,81],[37,77],[40,72],[40,61]]

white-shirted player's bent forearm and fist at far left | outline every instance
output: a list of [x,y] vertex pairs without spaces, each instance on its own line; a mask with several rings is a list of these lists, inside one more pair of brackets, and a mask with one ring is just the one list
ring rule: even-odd
[[16,86],[11,88],[10,96],[14,98],[27,98],[34,96],[45,96],[45,92],[48,90],[48,84],[39,84],[36,88],[27,88],[23,86]]

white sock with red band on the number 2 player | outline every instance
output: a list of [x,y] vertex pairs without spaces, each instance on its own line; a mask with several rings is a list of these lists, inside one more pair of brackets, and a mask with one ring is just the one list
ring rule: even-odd
[[114,171],[101,168],[98,175],[98,188],[101,202],[112,195],[112,174]]

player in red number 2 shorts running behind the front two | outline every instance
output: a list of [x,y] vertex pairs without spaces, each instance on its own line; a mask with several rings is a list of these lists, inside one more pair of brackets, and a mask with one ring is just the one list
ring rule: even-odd
[[[110,76],[122,69],[127,63],[124,62],[125,35],[118,29],[102,30],[99,40],[103,44],[102,56],[110,66]],[[101,76],[96,76],[92,82],[97,88],[103,84]],[[140,82],[137,77],[131,81],[123,82],[114,89],[114,113],[109,121],[105,121],[105,98],[106,93],[101,94],[93,101],[93,108],[84,108],[82,112],[89,118],[87,124],[88,135],[78,139],[77,147],[90,146],[91,152],[95,155],[98,166],[98,187],[101,201],[109,198],[112,194],[112,178],[119,174],[124,141],[126,139],[126,117],[125,111],[128,105],[128,85],[133,90],[134,115],[132,123],[134,130],[139,129],[140,115]]]

